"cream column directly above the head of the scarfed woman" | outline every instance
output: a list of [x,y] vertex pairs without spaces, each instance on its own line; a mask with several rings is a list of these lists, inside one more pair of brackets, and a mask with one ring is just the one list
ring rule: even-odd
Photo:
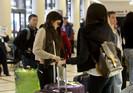
[[62,16],[66,16],[66,0],[56,0],[56,8],[63,11]]

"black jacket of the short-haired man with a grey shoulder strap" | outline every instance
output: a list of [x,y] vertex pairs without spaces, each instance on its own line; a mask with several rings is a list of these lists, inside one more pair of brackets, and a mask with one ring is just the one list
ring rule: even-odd
[[[34,30],[29,25],[27,27],[30,29],[30,38],[29,38],[29,40],[26,39],[27,30],[23,29],[20,32],[20,34],[15,38],[15,40],[13,42],[15,44],[15,46],[17,46],[18,49],[21,49],[22,51],[28,50],[28,48],[30,48],[31,50],[33,49],[35,34],[37,32],[37,28],[36,28],[36,30]],[[25,54],[26,53],[23,52],[23,55],[26,57]],[[34,59],[34,54],[32,53],[32,51],[31,51],[31,57],[32,57],[32,59]]]

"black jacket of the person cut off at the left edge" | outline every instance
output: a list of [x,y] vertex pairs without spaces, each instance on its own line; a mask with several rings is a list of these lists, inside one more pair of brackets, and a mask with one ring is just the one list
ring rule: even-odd
[[5,46],[5,43],[2,42],[2,39],[4,40],[4,42],[8,42],[9,36],[1,37],[0,39],[0,49],[2,50],[2,54],[6,55],[7,54],[6,46]]

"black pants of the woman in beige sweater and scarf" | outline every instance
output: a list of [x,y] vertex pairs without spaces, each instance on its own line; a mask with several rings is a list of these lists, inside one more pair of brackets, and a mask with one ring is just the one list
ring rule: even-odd
[[43,89],[46,84],[53,83],[53,66],[50,65],[46,68],[43,64],[39,64],[37,75],[39,78],[40,87]]

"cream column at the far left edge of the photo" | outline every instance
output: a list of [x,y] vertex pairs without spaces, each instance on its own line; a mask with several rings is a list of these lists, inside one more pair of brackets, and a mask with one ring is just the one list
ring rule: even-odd
[[0,0],[0,26],[8,27],[11,37],[11,0]]

